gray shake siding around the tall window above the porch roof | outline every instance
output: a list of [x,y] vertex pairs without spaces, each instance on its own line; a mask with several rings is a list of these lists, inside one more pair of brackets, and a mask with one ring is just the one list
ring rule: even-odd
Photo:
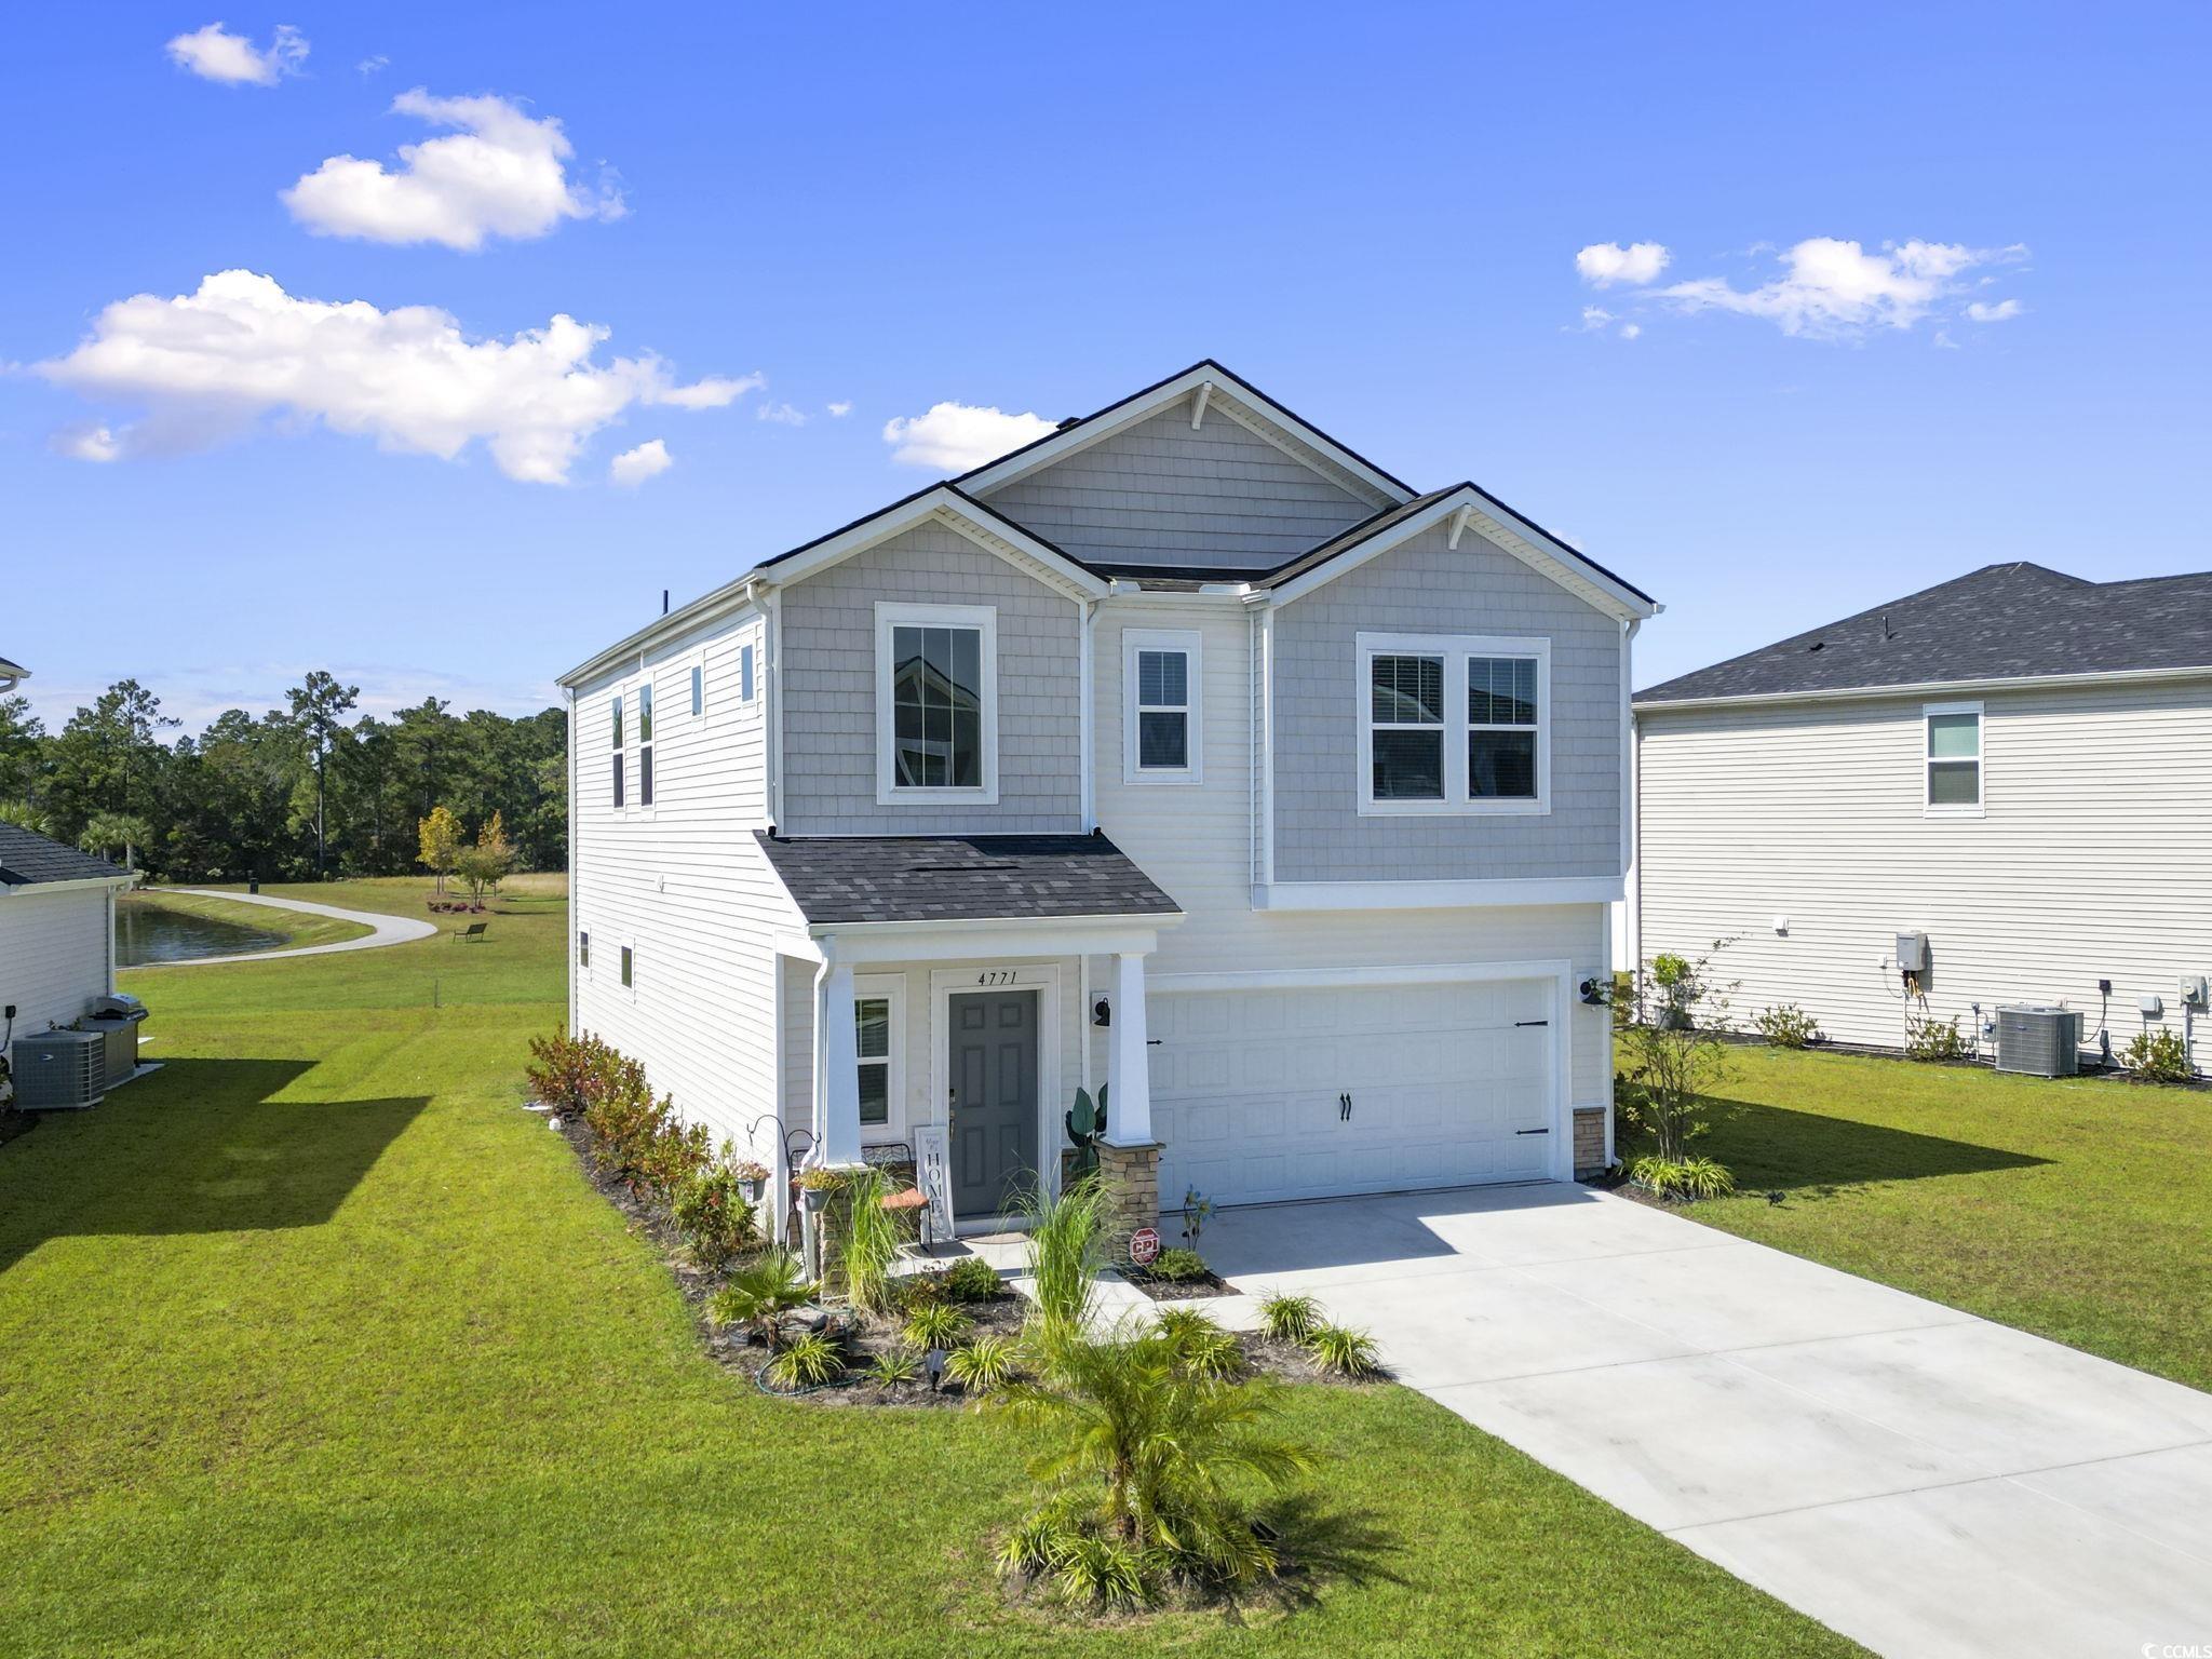
[[[876,805],[876,602],[998,611],[998,805]],[[799,836],[1082,830],[1073,599],[922,524],[783,593],[783,812]]]

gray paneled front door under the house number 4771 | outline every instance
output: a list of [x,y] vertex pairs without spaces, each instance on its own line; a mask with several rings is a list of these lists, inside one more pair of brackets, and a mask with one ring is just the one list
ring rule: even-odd
[[947,1002],[953,1217],[1004,1214],[1037,1170],[1037,993]]

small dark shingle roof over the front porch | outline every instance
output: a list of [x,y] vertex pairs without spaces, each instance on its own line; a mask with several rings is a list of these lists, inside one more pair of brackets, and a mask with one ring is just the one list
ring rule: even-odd
[[754,834],[810,922],[1179,914],[1106,836]]

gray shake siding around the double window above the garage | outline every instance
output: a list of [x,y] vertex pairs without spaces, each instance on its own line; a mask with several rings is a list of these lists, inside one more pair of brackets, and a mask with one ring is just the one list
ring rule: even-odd
[[[1276,880],[1621,874],[1621,626],[1469,531],[1369,560],[1274,622]],[[1551,639],[1551,812],[1363,818],[1356,635]]]

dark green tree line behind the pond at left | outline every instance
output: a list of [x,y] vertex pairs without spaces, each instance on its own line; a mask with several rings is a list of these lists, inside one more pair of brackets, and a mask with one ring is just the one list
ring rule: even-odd
[[285,706],[215,717],[197,737],[122,679],[49,732],[0,697],[0,818],[157,880],[316,880],[420,867],[440,807],[498,821],[520,869],[568,860],[568,717],[453,714],[438,697],[378,719],[314,670]]

